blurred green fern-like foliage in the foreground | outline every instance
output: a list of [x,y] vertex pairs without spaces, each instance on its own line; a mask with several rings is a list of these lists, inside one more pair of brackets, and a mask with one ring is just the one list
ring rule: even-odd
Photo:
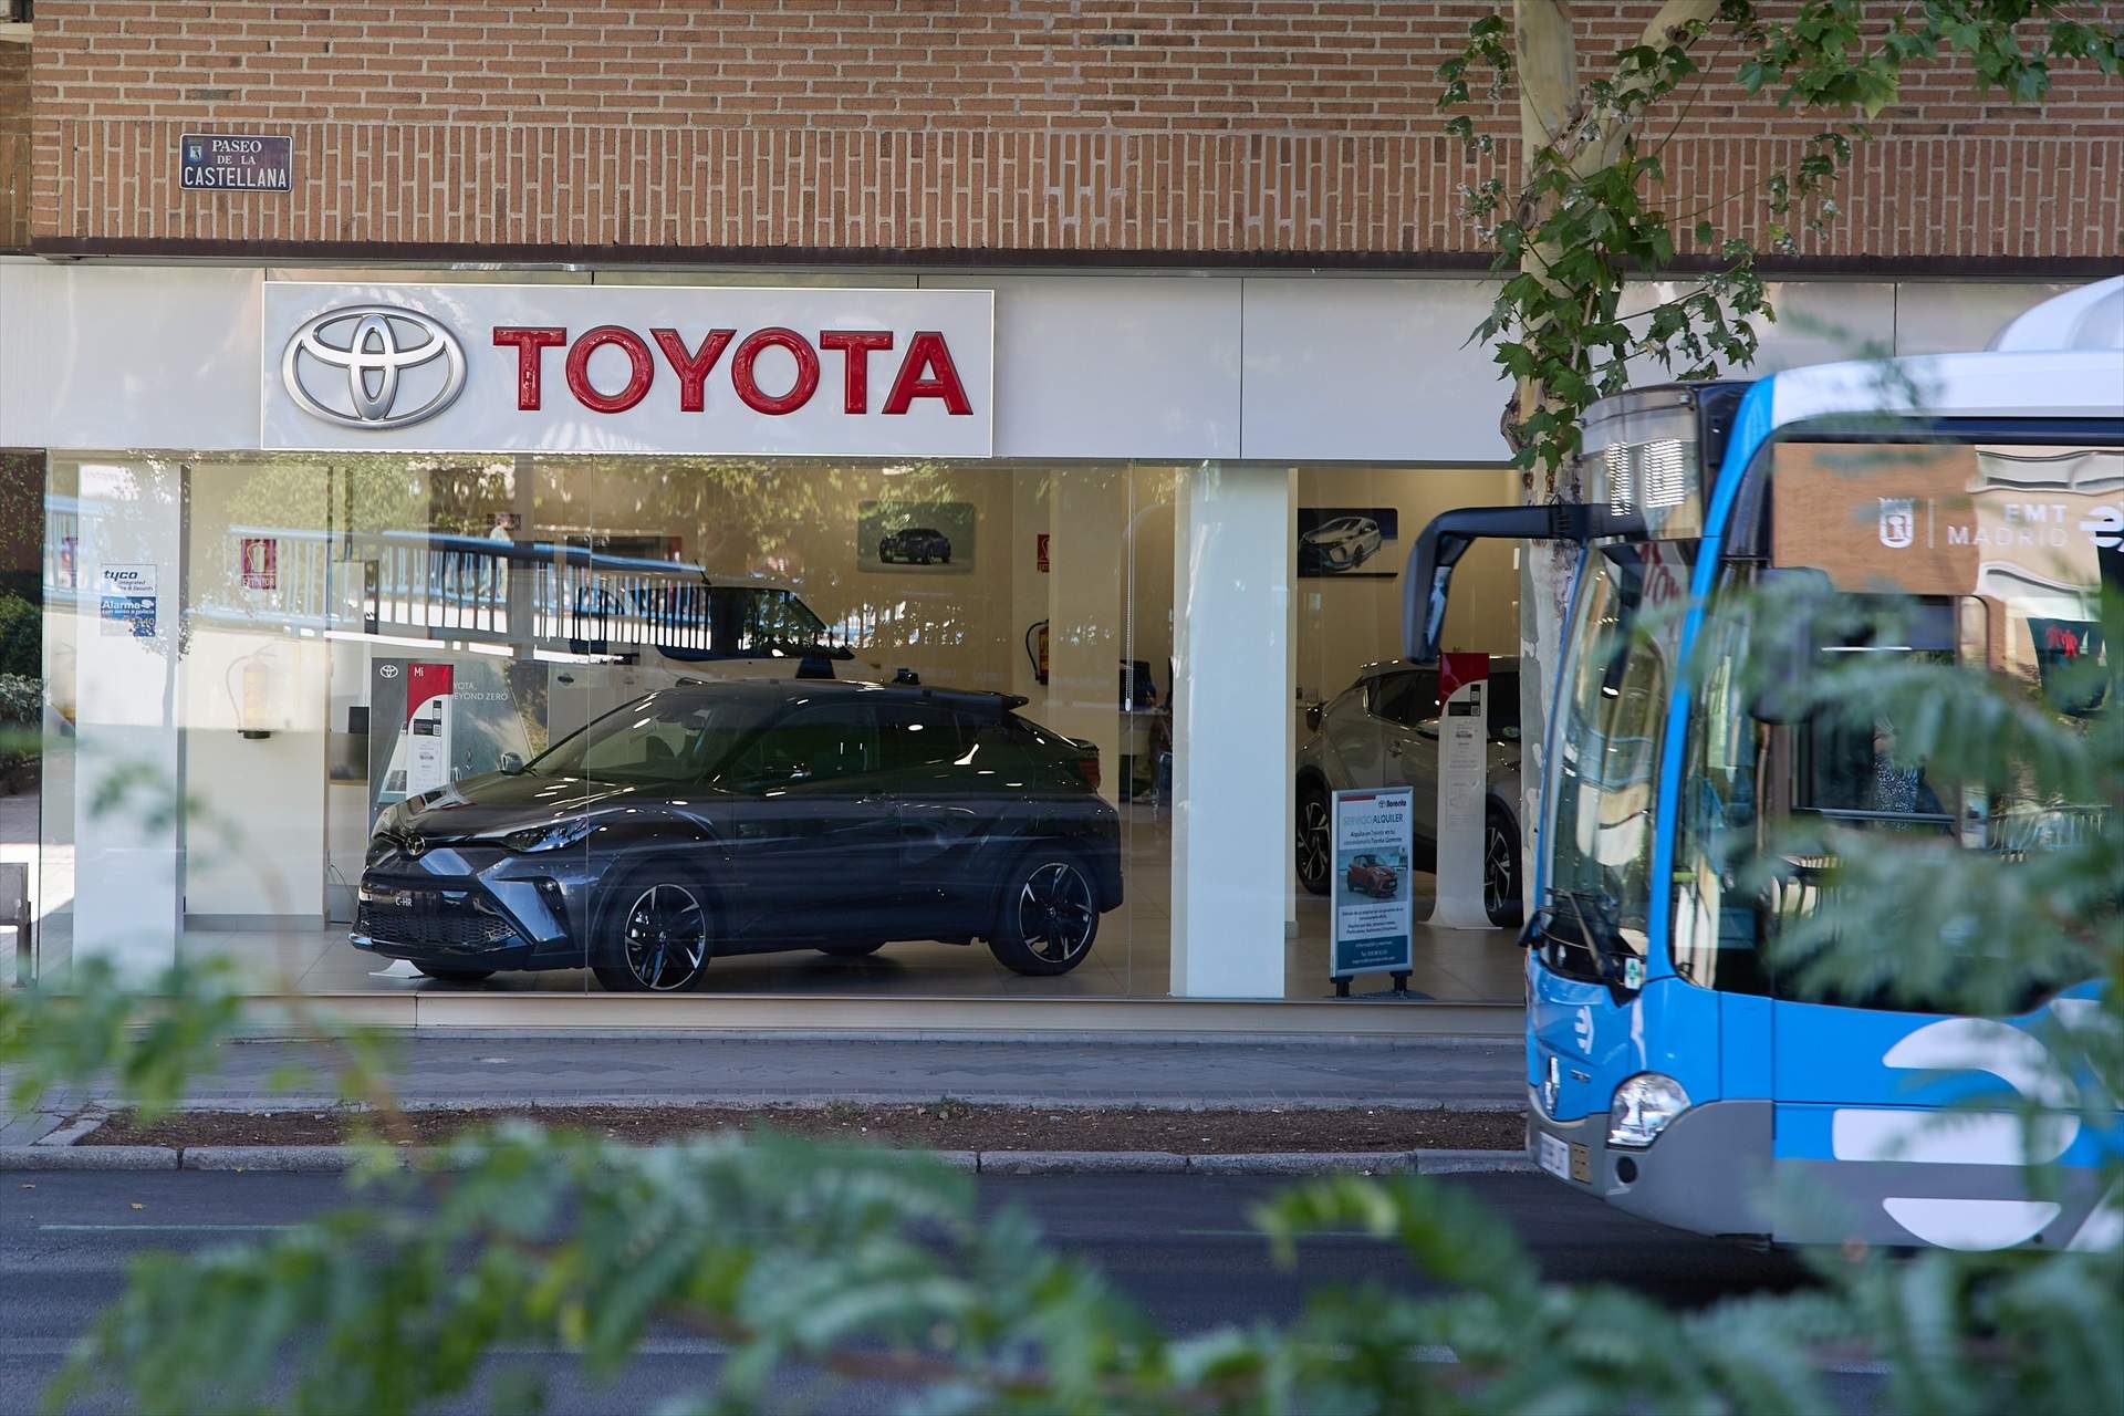
[[[2118,603],[2105,618],[2107,641],[2124,643]],[[2086,1121],[2113,1127],[2124,713],[2116,656],[2084,673],[2101,681],[2075,690],[2079,703],[2107,696],[2111,711],[2060,715],[2024,684],[1954,667],[1820,675],[1814,711],[1892,713],[1897,752],[1935,771],[2107,811],[2099,830],[2005,864],[1880,834],[1808,843],[1837,851],[1863,890],[1829,894],[1827,911],[1858,911],[1850,928],[1801,945],[1829,985],[1907,979],[1967,1011],[1997,1006],[2014,960],[2103,981],[2079,1032],[2045,1042]],[[1897,919],[1907,968],[1882,970],[1880,930]],[[115,1074],[153,1112],[240,1023],[223,972],[130,996],[83,966],[66,994],[0,998],[0,1064],[17,1106]],[[918,1412],[1822,1412],[1835,1410],[1827,1374],[1852,1363],[1880,1374],[1899,1412],[2116,1412],[2124,1399],[2116,1233],[2099,1253],[1822,1253],[1805,1293],[1667,1312],[1616,1287],[1544,1282],[1463,1189],[1334,1178],[1257,1210],[1264,1253],[1289,1263],[1308,1233],[1361,1231],[1398,1244],[1425,1291],[1328,1287],[1289,1325],[1177,1337],[1024,1214],[977,1216],[973,1180],[922,1155],[771,1134],[629,1146],[510,1123],[412,1157],[378,1042],[308,1025],[374,1127],[346,1208],[140,1259],[55,1382],[55,1410],[121,1395],[155,1412],[410,1412],[478,1376],[499,1410],[533,1410],[535,1374],[482,1367],[499,1348],[576,1350],[612,1374],[652,1335],[720,1354],[703,1357],[678,1412],[835,1410],[843,1382]]]

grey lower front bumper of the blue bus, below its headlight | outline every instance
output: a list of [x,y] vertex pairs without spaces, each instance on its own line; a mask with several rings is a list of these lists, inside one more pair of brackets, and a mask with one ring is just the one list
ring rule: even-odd
[[1608,1112],[1551,1121],[1527,1089],[1527,1159],[1618,1210],[1697,1233],[1763,1238],[1771,1165],[1769,1102],[1706,1102],[1650,1146],[1608,1146]]

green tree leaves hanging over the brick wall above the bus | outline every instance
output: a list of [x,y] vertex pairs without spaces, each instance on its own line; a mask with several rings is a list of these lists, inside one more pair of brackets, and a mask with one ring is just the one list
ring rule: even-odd
[[[1958,59],[1982,89],[2016,104],[2041,102],[2060,62],[2124,72],[2124,23],[2086,0],[1718,0],[1674,13],[1680,23],[1606,53],[1606,68],[1574,79],[1572,91],[1542,89],[1536,104],[1568,110],[1565,129],[1546,142],[1521,134],[1517,189],[1493,180],[1463,202],[1506,276],[1476,333],[1521,386],[1514,461],[1542,473],[1544,497],[1568,480],[1578,416],[1623,388],[1631,363],[1676,378],[1748,365],[1754,329],[1771,318],[1757,255],[1793,251],[1835,221],[1829,191],[1871,136],[1869,123],[1895,108],[1907,70]],[[1514,83],[1557,79],[1519,62],[1502,8],[1478,17],[1440,66],[1440,110],[1476,102],[1474,74],[1489,74],[1489,100]],[[1661,153],[1720,74],[1742,96],[1822,115],[1827,127],[1750,189],[1676,210]],[[1444,132],[1470,153],[1497,146],[1497,134],[1468,113],[1451,113]],[[1621,318],[1625,282],[1672,267],[1678,229],[1710,267],[1691,272],[1691,295],[1650,323]],[[1555,416],[1540,418],[1538,408]]]

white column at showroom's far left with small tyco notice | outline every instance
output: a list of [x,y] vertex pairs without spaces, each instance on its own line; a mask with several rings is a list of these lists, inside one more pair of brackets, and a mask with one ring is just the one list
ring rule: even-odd
[[[183,794],[176,652],[183,499],[174,465],[81,467],[74,607],[74,957],[115,960],[136,983],[176,962]],[[102,618],[104,569],[153,567],[155,633]],[[119,790],[119,783],[125,783]],[[100,802],[115,792],[113,802]]]

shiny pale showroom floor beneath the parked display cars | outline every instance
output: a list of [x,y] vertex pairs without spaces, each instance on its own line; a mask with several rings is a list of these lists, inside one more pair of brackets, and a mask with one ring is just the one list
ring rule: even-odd
[[[809,949],[733,955],[718,960],[703,985],[716,994],[873,994],[924,998],[1164,998],[1170,994],[1170,824],[1145,807],[1126,811],[1130,858],[1128,902],[1100,921],[1092,957],[1060,979],[1024,979],[998,966],[986,947],[896,943],[860,960],[837,960]],[[1432,877],[1412,877],[1415,915],[1429,913]],[[1444,1002],[1519,1002],[1523,955],[1510,930],[1415,930],[1410,991]],[[457,989],[423,979],[408,964],[391,964],[346,943],[346,928],[295,934],[189,930],[183,953],[227,953],[246,960],[246,974],[261,991],[367,994]],[[586,991],[588,970],[497,974],[478,989]],[[1389,987],[1385,974],[1353,981],[1355,994]],[[1285,949],[1285,996],[1325,998],[1328,902],[1298,894],[1296,932]]]

